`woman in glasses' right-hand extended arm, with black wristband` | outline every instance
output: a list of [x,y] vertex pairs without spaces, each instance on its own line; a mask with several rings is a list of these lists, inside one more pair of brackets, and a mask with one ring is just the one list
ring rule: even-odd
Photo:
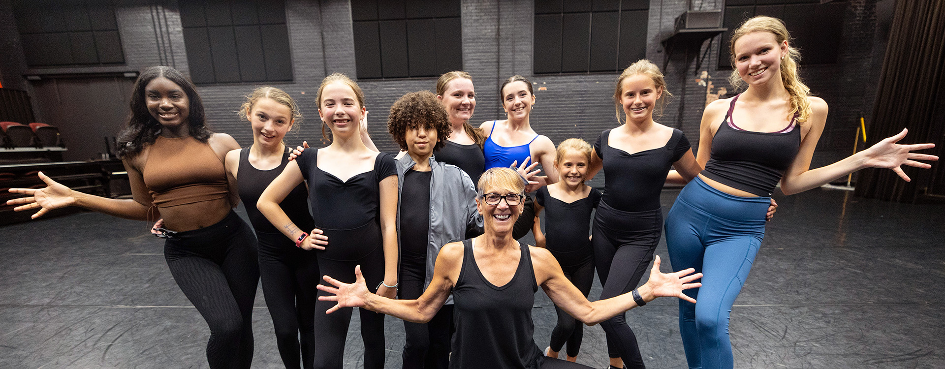
[[[537,254],[546,254],[538,257]],[[620,294],[606,300],[588,301],[584,294],[581,294],[574,284],[564,277],[558,261],[551,256],[551,253],[541,249],[540,252],[533,252],[535,262],[536,277],[545,277],[541,283],[541,288],[545,294],[555,302],[555,305],[566,311],[577,320],[584,322],[589,326],[601,323],[626,310],[637,307],[633,301],[632,294]],[[541,268],[541,273],[540,269]],[[690,283],[702,277],[701,273],[692,274],[694,269],[689,268],[676,273],[663,274],[660,272],[660,257],[657,256],[653,261],[653,269],[650,270],[649,280],[643,286],[637,289],[645,302],[652,301],[660,296],[674,296],[685,299],[690,302],[696,302],[691,297],[682,294],[682,290],[700,287],[701,283]]]

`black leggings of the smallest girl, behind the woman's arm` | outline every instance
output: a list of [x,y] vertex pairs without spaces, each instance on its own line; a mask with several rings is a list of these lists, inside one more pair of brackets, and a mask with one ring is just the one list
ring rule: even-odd
[[[562,258],[563,259],[563,258]],[[559,259],[560,263],[561,260]],[[580,290],[584,297],[591,294],[591,285],[593,284],[593,256],[588,255],[581,263],[573,266],[561,266],[564,271],[564,277],[568,277],[571,283],[574,283],[577,290]],[[551,331],[551,349],[560,351],[561,346],[567,342],[568,356],[576,357],[581,351],[581,340],[584,338],[584,324],[570,314],[555,306],[555,312],[558,313],[558,325]]]

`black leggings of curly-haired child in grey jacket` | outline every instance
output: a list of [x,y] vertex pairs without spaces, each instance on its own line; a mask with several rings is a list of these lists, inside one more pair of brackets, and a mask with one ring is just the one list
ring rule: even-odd
[[[426,279],[426,262],[406,270],[401,264],[398,278],[401,299],[412,300],[423,294]],[[411,323],[404,320],[404,369],[446,369],[450,364],[450,339],[453,326],[453,304],[443,305],[427,323]]]

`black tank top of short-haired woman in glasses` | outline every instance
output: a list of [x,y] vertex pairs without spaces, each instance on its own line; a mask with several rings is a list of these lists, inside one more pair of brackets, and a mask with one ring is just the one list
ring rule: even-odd
[[463,241],[463,266],[453,289],[456,332],[450,368],[535,369],[541,349],[535,344],[531,310],[538,285],[528,246],[515,276],[496,287],[479,271],[472,241]]

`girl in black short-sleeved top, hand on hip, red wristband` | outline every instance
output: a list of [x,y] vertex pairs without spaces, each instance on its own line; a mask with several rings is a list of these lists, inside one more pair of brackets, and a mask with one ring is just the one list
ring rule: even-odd
[[[354,265],[361,265],[371,291],[393,298],[397,288],[397,172],[394,159],[370,150],[361,140],[364,94],[341,74],[325,77],[318,89],[318,114],[332,130],[332,143],[305,150],[260,196],[258,207],[284,235],[305,249],[315,248],[318,268],[353,281]],[[315,226],[328,238],[314,242],[279,207],[292,189],[306,180]],[[348,277],[345,277],[345,276]],[[319,301],[315,329],[316,368],[342,366],[345,338],[352,310],[326,315],[331,303]],[[385,360],[384,315],[359,310],[365,368],[382,368]]]

